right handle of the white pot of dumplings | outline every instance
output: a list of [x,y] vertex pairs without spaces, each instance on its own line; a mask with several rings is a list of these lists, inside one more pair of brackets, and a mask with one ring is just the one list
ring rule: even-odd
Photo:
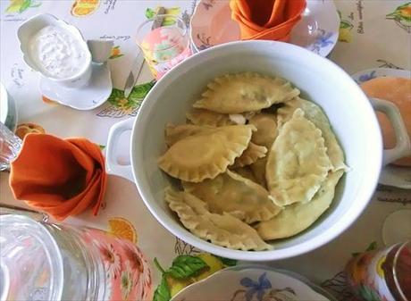
[[394,129],[397,145],[390,149],[384,149],[382,155],[382,166],[394,162],[399,158],[411,154],[411,142],[407,133],[406,125],[402,120],[397,105],[380,98],[370,98],[371,104],[376,111],[386,114]]

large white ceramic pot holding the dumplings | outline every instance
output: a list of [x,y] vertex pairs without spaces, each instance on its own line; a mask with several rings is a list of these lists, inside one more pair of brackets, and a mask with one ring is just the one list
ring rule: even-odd
[[[299,88],[303,96],[321,105],[340,139],[351,169],[340,181],[331,208],[320,220],[296,237],[274,241],[274,249],[270,251],[231,250],[191,234],[164,202],[164,188],[172,185],[172,179],[156,163],[165,150],[166,123],[184,123],[185,113],[210,80],[239,71],[281,76]],[[396,114],[382,102],[379,106]],[[131,129],[131,165],[119,165],[115,158],[117,141],[123,131]],[[390,154],[390,160],[392,157]],[[156,83],[137,118],[119,122],[111,129],[107,167],[109,172],[134,181],[157,221],[190,245],[239,260],[278,260],[321,247],[356,221],[373,196],[382,168],[382,136],[373,106],[356,82],[336,64],[286,43],[233,42],[193,55]]]

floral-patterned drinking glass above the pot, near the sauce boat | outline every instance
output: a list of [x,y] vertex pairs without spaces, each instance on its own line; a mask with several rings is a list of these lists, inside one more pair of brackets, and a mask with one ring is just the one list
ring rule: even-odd
[[156,14],[137,30],[136,42],[155,79],[191,55],[189,29],[179,17]]

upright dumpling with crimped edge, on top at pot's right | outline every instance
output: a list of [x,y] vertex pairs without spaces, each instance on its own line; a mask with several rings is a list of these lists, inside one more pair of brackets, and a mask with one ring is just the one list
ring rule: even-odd
[[265,166],[265,178],[277,205],[309,202],[332,165],[321,130],[297,109],[275,139]]

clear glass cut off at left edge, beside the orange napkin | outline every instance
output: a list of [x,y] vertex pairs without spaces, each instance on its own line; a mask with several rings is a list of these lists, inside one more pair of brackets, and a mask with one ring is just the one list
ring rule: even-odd
[[18,138],[0,122],[0,171],[9,168],[10,163],[20,152],[21,138]]

